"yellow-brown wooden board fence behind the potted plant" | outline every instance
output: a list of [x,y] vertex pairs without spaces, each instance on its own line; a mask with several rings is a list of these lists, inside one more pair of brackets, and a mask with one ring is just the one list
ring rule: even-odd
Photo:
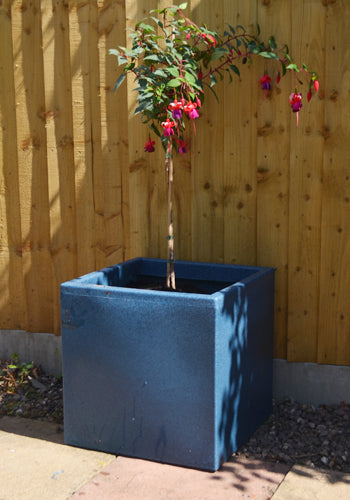
[[[1,328],[57,334],[61,282],[165,256],[161,148],[144,153],[131,82],[114,94],[107,55],[159,3],[0,2]],[[274,266],[275,356],[350,365],[350,3],[189,4],[213,29],[257,20],[321,85],[298,128],[291,77],[264,97],[263,60],[207,97],[175,166],[176,257]]]

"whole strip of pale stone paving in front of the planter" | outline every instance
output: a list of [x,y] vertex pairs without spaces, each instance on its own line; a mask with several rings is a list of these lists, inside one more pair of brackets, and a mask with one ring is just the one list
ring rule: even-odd
[[203,472],[66,446],[59,430],[0,417],[0,500],[350,499],[350,474],[241,457]]

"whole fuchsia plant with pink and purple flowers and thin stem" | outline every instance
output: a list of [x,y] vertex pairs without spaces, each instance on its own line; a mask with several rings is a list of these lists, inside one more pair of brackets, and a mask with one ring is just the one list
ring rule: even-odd
[[[184,131],[186,121],[193,124],[200,117],[205,88],[215,97],[214,86],[227,74],[229,83],[232,75],[240,77],[237,62],[251,64],[254,56],[281,66],[276,82],[287,71],[294,74],[295,81],[302,85],[301,76],[309,80],[308,101],[313,91],[318,91],[317,74],[308,70],[305,64],[299,67],[289,54],[288,46],[277,48],[274,37],[265,45],[258,35],[248,33],[243,26],[233,28],[223,35],[199,27],[185,14],[187,4],[166,7],[150,12],[149,21],[141,21],[131,30],[131,48],[119,47],[110,53],[118,57],[118,64],[124,66],[115,83],[115,90],[122,84],[127,73],[135,77],[138,105],[135,114],[140,113],[143,123],[158,135],[165,149],[165,166],[168,173],[168,269],[167,288],[175,289],[174,233],[172,219],[173,150],[186,153]],[[157,17],[155,17],[157,16]],[[272,86],[272,79],[265,71],[260,78],[264,92]],[[291,109],[299,121],[302,94],[295,88],[289,96]],[[149,136],[145,152],[155,150],[155,141]]]

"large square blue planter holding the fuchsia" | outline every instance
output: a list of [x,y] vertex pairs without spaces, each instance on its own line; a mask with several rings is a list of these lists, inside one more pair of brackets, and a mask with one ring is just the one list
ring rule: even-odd
[[274,271],[134,259],[61,285],[67,444],[217,470],[269,416]]

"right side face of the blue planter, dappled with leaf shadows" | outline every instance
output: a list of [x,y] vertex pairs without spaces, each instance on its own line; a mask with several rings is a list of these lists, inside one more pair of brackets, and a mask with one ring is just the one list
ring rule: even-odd
[[222,458],[234,453],[272,410],[274,273],[224,294],[227,367],[221,371],[218,427]]

